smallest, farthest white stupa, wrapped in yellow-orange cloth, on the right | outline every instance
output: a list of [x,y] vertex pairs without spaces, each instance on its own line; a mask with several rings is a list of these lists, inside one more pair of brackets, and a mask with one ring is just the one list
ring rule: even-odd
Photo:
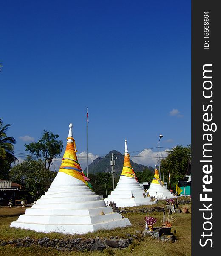
[[154,177],[147,192],[150,194],[150,196],[153,196],[156,199],[176,199],[176,196],[173,195],[170,190],[167,189],[164,182],[160,180],[156,165]]

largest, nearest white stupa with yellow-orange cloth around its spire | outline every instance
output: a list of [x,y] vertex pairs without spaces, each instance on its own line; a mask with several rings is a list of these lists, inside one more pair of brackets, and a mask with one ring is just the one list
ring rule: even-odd
[[13,221],[10,227],[45,233],[84,234],[131,225],[127,218],[113,212],[93,192],[76,152],[70,124],[67,146],[57,176],[45,195],[26,209],[26,213]]

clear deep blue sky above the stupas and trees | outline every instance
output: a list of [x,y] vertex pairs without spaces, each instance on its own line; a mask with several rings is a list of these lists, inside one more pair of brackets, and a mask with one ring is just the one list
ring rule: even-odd
[[65,144],[70,122],[83,156],[87,107],[91,156],[123,153],[125,138],[129,151],[159,134],[164,148],[191,143],[190,0],[11,0],[0,19],[0,117],[17,156],[44,129]]

